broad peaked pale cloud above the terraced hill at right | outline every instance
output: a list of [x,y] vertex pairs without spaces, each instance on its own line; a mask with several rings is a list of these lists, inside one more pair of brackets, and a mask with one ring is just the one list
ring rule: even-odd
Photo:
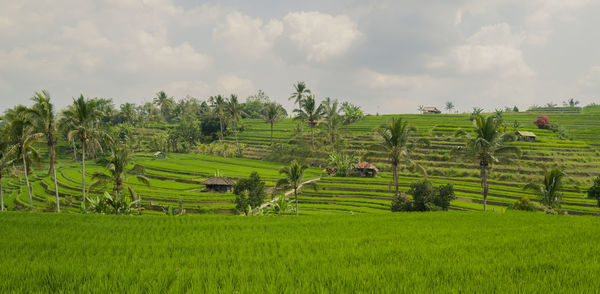
[[499,77],[535,75],[523,58],[522,34],[513,34],[510,26],[500,23],[482,27],[446,56],[432,58],[429,68],[456,68],[462,74],[486,74]]

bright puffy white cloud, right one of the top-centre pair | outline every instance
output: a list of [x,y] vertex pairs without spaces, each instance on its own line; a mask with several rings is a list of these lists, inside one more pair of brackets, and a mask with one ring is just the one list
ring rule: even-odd
[[323,62],[340,56],[361,36],[357,24],[346,15],[290,12],[283,21],[285,34],[306,54],[308,61]]

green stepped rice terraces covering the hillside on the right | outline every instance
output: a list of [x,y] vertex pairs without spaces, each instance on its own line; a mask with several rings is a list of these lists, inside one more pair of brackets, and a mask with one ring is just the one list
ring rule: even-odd
[[[560,109],[560,108],[559,108]],[[523,191],[525,183],[539,180],[542,177],[542,165],[548,167],[558,165],[567,173],[566,191],[563,198],[563,209],[572,214],[599,214],[595,200],[587,199],[585,191],[591,179],[600,173],[600,125],[596,123],[595,112],[574,112],[569,108],[554,111],[546,115],[553,123],[565,128],[573,140],[564,140],[550,130],[538,129],[533,121],[538,115],[545,114],[544,109],[525,113],[504,113],[507,131],[517,121],[519,130],[532,131],[537,142],[512,142],[523,151],[520,158],[512,157],[492,170],[490,176],[490,196],[488,203],[494,211],[506,209],[516,199],[528,196],[535,199],[530,191]],[[451,183],[455,186],[457,200],[452,202],[452,209],[481,209],[481,186],[479,172],[473,162],[462,161],[451,153],[463,141],[455,138],[454,133],[462,128],[472,129],[469,114],[403,114],[366,116],[358,122],[346,125],[341,134],[345,141],[345,150],[355,152],[374,163],[380,170],[376,178],[329,177],[322,178],[316,189],[306,189],[300,198],[301,212],[319,213],[385,213],[389,210],[392,197],[392,177],[386,154],[372,152],[369,146],[378,140],[375,130],[389,122],[392,117],[400,116],[408,120],[416,128],[415,137],[424,138],[429,146],[421,146],[414,150],[412,158],[427,170],[427,178],[434,184]],[[274,141],[280,144],[308,141],[309,138],[295,135],[296,122],[286,119],[276,123],[273,131]],[[318,131],[317,131],[318,132]],[[297,131],[296,131],[297,134]],[[248,119],[244,121],[244,131],[239,138],[245,144],[245,156],[263,158],[270,150],[270,126],[262,120]],[[321,144],[327,146],[324,136],[318,135]],[[228,138],[231,140],[231,138]],[[324,158],[327,152],[317,152],[319,156],[306,158],[314,165],[326,166]],[[411,183],[422,180],[423,175],[407,169],[401,171],[400,186],[402,191],[408,190]]]

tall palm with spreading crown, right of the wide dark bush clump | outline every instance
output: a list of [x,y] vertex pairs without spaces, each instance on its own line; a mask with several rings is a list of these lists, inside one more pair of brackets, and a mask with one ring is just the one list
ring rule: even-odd
[[502,133],[501,121],[495,116],[475,116],[473,118],[475,132],[473,135],[463,129],[456,131],[457,137],[465,139],[465,146],[457,147],[453,152],[463,157],[468,157],[479,164],[481,176],[481,189],[483,195],[483,211],[486,210],[488,195],[487,176],[493,164],[499,162],[498,157],[507,153],[521,155],[521,149],[515,146],[505,146],[504,143],[512,140],[514,134]]

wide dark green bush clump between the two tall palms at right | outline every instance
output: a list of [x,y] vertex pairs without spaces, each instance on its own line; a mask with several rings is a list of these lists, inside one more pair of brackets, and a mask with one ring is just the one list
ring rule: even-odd
[[450,201],[456,199],[452,184],[434,187],[430,181],[421,181],[410,185],[410,200],[402,194],[392,199],[392,211],[438,211],[448,210]]

